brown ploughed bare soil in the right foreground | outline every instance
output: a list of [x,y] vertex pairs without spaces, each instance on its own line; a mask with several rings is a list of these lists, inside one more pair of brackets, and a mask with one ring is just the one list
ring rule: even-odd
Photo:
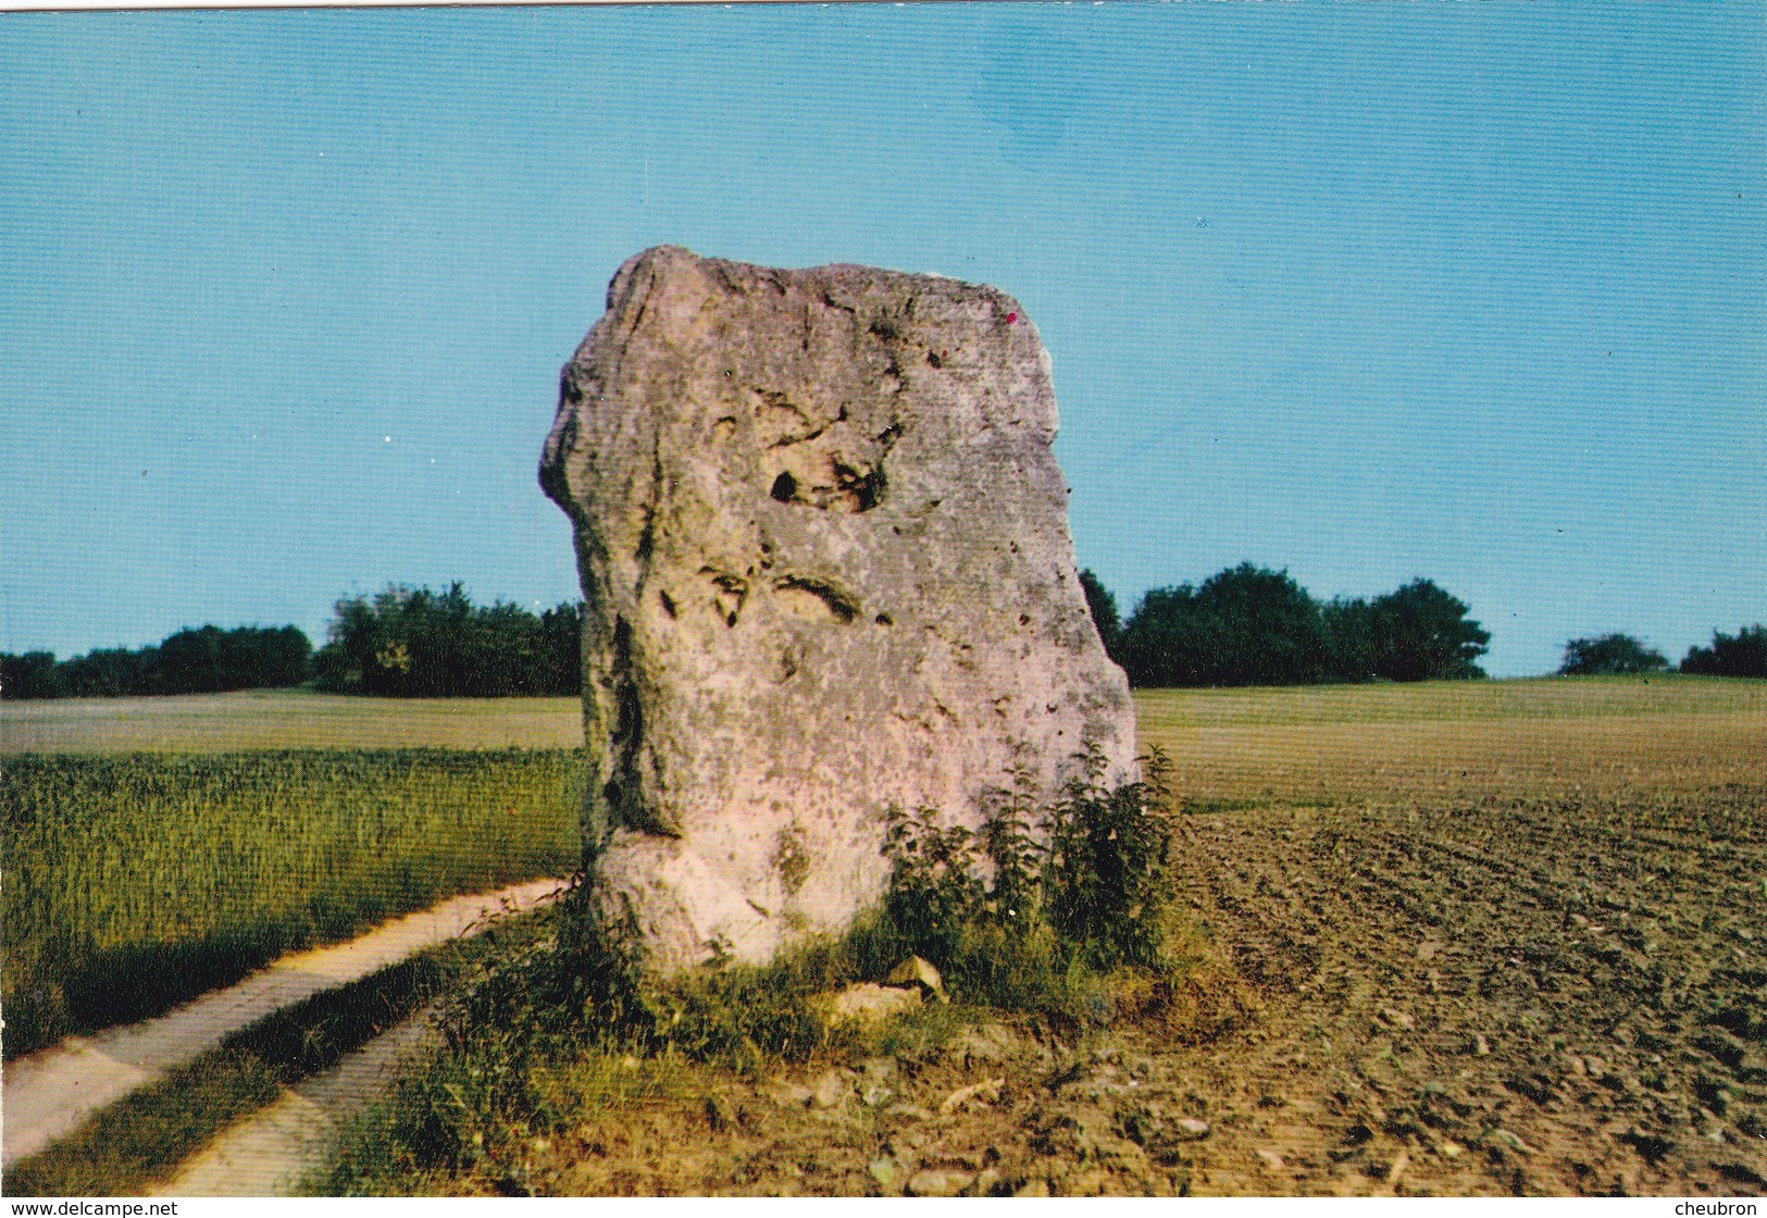
[[707,1073],[537,1149],[532,1186],[1760,1193],[1760,1027],[1725,1025],[1767,1009],[1739,937],[1760,838],[1604,820],[1191,815],[1187,887],[1232,972],[1108,1032],[995,1020],[921,1055]]

